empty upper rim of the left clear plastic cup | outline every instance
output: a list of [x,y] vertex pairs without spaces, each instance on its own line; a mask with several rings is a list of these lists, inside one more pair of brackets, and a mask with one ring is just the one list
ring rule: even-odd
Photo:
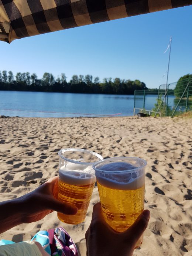
[[[65,151],[80,151],[80,152],[84,152],[84,153],[89,153],[89,154],[92,154],[92,155],[100,158],[100,160],[103,160],[103,157],[100,154],[98,154],[98,153],[96,153],[94,151],[86,150],[86,149],[68,148],[68,149],[61,149],[61,150],[59,150],[59,152],[58,152],[59,157],[61,157],[62,159],[66,160],[66,161],[68,161],[70,163],[74,163],[74,164],[93,165],[95,162],[79,162],[79,161],[75,161],[75,160],[69,159],[69,158],[64,157],[64,156],[61,155],[61,153],[65,152]],[[100,160],[98,160],[97,162],[99,162]]]

